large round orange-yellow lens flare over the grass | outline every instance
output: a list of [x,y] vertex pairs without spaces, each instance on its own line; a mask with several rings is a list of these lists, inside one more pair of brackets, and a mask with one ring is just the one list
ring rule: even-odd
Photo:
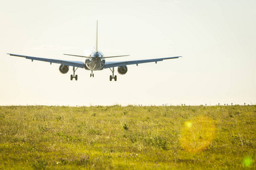
[[190,152],[205,150],[213,141],[215,125],[207,116],[186,121],[180,134],[180,146]]

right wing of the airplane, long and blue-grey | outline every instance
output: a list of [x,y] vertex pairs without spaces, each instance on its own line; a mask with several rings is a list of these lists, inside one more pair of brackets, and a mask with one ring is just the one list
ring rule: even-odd
[[164,59],[174,59],[179,58],[177,57],[167,57],[167,58],[155,58],[155,59],[142,59],[142,60],[134,60],[134,61],[121,61],[121,62],[105,62],[104,69],[111,68],[111,67],[119,67],[119,66],[126,66],[126,65],[137,65],[139,63],[147,63],[147,62],[155,62],[163,61]]

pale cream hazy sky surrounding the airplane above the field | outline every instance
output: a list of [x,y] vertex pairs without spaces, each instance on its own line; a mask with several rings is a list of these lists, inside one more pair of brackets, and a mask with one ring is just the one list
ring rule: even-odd
[[[256,1],[4,1],[0,105],[221,105],[256,103]],[[9,56],[81,60],[96,44],[107,61],[183,56],[109,69],[77,69]],[[115,69],[117,70],[117,69]]]

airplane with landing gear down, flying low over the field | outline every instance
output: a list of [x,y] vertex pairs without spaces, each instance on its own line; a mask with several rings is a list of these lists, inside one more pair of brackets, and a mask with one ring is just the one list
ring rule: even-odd
[[105,57],[104,54],[98,50],[98,20],[97,20],[97,31],[96,31],[96,46],[95,46],[94,50],[90,54],[87,54],[85,56],[64,54],[67,56],[84,57],[84,58],[86,58],[84,62],[83,61],[67,61],[67,60],[62,60],[62,59],[31,57],[31,56],[23,56],[23,55],[19,55],[19,54],[10,54],[10,53],[7,53],[7,54],[9,54],[10,56],[31,59],[32,62],[34,60],[38,60],[38,61],[49,62],[50,64],[60,63],[59,70],[60,70],[60,73],[62,73],[62,74],[67,74],[69,71],[69,67],[72,66],[73,67],[73,75],[71,74],[71,80],[73,80],[73,78],[75,78],[75,80],[77,80],[77,75],[75,75],[75,72],[78,68],[92,71],[92,73],[90,74],[90,77],[94,77],[93,71],[110,69],[112,71],[112,75],[110,75],[110,77],[109,77],[110,81],[112,81],[112,79],[117,81],[117,75],[114,75],[114,67],[117,67],[117,71],[119,74],[124,75],[128,71],[127,65],[137,65],[138,66],[138,64],[141,64],[141,63],[147,63],[147,62],[157,63],[158,61],[163,61],[164,59],[174,59],[174,58],[182,57],[182,56],[177,56],[177,57],[166,57],[166,58],[155,58],[155,59],[142,59],[142,60],[134,60],[134,61],[106,62],[105,58],[125,57],[125,56],[129,56],[129,55]]

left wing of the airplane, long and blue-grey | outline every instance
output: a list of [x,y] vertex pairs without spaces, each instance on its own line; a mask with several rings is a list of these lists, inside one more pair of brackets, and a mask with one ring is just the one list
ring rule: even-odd
[[[9,54],[9,53],[7,53],[7,54]],[[49,62],[51,64],[52,63],[60,63],[62,65],[84,68],[84,62],[82,62],[82,61],[66,61],[66,60],[62,60],[62,59],[30,57],[30,56],[22,56],[22,55],[18,55],[18,54],[9,54],[9,55],[15,56],[15,57],[24,57],[26,59],[31,59],[31,61],[38,60],[38,61]]]

